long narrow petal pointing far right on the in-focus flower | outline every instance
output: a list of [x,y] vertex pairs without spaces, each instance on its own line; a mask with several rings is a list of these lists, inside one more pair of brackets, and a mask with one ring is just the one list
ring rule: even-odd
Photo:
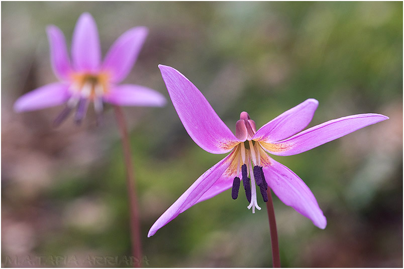
[[261,143],[275,155],[288,156],[305,152],[368,125],[387,120],[380,114],[358,114],[327,121],[275,143]]

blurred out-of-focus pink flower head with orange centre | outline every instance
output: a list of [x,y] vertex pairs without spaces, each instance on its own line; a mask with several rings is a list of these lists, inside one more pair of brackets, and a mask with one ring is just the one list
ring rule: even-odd
[[118,85],[129,74],[147,36],[147,28],[135,27],[126,31],[112,45],[104,62],[98,31],[94,19],[83,13],[73,33],[70,64],[62,31],[56,26],[46,29],[53,72],[59,82],[39,87],[23,96],[14,104],[17,112],[43,109],[66,103],[66,108],[56,118],[59,124],[77,108],[74,119],[79,123],[89,102],[98,116],[103,103],[121,106],[163,106],[162,94],[147,87]]

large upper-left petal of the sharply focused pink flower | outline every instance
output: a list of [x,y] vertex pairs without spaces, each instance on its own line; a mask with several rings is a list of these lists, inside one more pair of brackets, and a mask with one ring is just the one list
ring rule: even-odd
[[199,147],[220,154],[241,142],[187,78],[172,67],[159,68],[179,119]]

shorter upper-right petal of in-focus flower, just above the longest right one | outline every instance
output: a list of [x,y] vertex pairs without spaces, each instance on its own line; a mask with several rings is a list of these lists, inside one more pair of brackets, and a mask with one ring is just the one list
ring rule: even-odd
[[262,126],[252,139],[271,143],[296,134],[309,125],[318,105],[316,99],[307,99]]

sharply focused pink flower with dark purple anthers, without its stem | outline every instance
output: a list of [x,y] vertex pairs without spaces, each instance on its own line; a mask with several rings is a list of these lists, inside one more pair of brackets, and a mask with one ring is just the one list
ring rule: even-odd
[[317,100],[308,99],[257,131],[255,122],[247,112],[242,112],[234,135],[187,78],[171,67],[160,65],[159,68],[175,110],[193,141],[211,153],[231,153],[201,175],[157,219],[150,228],[149,237],[179,213],[224,190],[232,188],[232,197],[237,198],[241,179],[250,202],[248,208],[252,208],[253,213],[255,208],[261,209],[257,187],[265,202],[268,200],[266,189],[270,187],[283,203],[324,229],[326,217],[309,187],[266,152],[281,156],[298,154],[388,119],[380,114],[352,115],[300,132],[310,123],[318,106]]

